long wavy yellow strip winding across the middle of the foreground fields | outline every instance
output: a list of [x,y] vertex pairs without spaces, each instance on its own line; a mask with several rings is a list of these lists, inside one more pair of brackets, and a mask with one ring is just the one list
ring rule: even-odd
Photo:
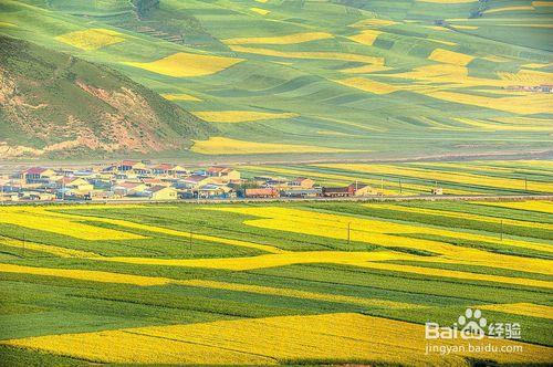
[[103,258],[102,261],[113,261],[142,265],[206,268],[223,270],[255,270],[265,268],[286,266],[293,264],[356,264],[364,261],[386,260],[418,260],[419,256],[392,252],[349,252],[349,251],[302,251],[282,252],[275,254],[263,254],[248,258],[223,258],[223,259],[153,259],[153,258]]

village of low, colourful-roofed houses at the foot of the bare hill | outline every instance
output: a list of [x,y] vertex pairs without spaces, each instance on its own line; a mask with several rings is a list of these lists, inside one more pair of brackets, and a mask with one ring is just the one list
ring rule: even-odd
[[[435,189],[434,195],[441,195]],[[238,169],[190,169],[175,164],[122,160],[85,169],[31,167],[0,176],[0,201],[167,201],[234,198],[380,196],[361,181],[323,187],[309,177],[242,177]]]

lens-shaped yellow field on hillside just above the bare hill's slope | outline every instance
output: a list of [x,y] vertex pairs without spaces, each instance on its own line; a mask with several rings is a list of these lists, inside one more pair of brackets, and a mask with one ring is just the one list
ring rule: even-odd
[[179,52],[153,62],[128,61],[125,64],[157,74],[189,77],[215,74],[242,61],[242,59]]

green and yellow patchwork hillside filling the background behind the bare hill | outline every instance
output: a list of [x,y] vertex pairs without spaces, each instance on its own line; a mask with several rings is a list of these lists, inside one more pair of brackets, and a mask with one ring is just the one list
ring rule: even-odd
[[546,155],[552,94],[528,88],[553,84],[552,3],[4,0],[0,33],[211,124],[188,159]]

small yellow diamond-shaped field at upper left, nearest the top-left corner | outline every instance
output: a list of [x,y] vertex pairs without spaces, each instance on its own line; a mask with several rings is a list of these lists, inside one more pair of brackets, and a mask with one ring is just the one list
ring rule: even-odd
[[123,34],[104,28],[94,28],[58,35],[55,40],[84,51],[94,51],[125,41]]

